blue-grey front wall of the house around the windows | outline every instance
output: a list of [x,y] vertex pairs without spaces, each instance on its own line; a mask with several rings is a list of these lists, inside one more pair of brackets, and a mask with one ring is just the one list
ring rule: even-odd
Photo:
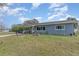
[[[59,25],[59,24],[58,24]],[[43,25],[45,26],[45,30],[37,30],[36,27],[34,30],[36,30],[38,33],[48,33],[48,34],[56,34],[56,35],[70,35],[74,33],[74,26],[73,24],[60,24],[64,25],[65,29],[64,30],[57,30],[56,26],[57,25]]]

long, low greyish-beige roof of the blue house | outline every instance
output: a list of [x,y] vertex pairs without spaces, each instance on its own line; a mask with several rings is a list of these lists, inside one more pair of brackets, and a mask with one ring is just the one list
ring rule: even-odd
[[64,20],[64,21],[53,21],[53,22],[45,22],[45,23],[38,23],[37,25],[51,25],[51,24],[68,24],[68,23],[78,23],[76,20]]

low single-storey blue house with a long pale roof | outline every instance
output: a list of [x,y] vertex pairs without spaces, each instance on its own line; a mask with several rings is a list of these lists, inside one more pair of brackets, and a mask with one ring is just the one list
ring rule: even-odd
[[38,23],[32,26],[32,32],[55,35],[74,35],[78,30],[78,22],[75,18],[67,18],[64,21]]

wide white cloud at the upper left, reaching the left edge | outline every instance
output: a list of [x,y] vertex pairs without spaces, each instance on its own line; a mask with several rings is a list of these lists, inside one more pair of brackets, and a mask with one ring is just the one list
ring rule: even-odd
[[24,13],[22,12],[27,12],[28,9],[25,9],[25,8],[10,8],[8,6],[4,6],[3,8],[0,8],[0,12],[1,14],[3,15],[13,15],[13,16],[20,16],[20,15],[23,15]]

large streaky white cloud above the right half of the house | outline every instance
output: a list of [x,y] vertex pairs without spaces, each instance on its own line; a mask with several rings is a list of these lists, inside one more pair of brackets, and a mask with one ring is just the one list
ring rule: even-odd
[[50,15],[48,15],[49,21],[61,20],[61,18],[67,18],[69,16],[68,6],[65,4],[61,4],[61,6],[62,7],[57,5],[57,8],[53,8],[53,11],[49,13]]

